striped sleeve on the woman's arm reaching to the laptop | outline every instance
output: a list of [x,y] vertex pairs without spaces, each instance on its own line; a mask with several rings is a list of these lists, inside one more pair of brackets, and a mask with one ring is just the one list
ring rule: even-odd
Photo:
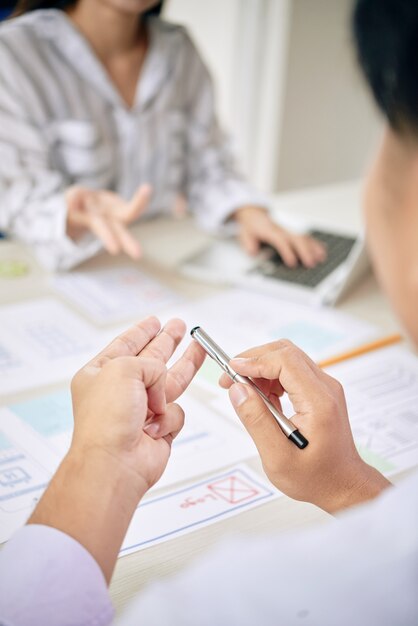
[[185,59],[186,97],[186,194],[200,225],[217,231],[239,207],[268,206],[235,164],[230,142],[221,131],[215,111],[210,74],[187,34]]

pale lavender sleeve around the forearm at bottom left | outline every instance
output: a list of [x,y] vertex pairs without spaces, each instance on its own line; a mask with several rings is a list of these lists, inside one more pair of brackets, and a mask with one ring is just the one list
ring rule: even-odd
[[2,626],[104,626],[112,619],[101,569],[68,535],[29,524],[0,551]]

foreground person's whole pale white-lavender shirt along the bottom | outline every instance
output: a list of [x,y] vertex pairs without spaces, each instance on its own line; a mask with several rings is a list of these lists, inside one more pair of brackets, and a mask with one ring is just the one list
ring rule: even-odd
[[[71,537],[29,525],[0,551],[2,626],[111,622],[103,574]],[[151,585],[117,624],[416,626],[418,474],[318,528],[224,541]]]

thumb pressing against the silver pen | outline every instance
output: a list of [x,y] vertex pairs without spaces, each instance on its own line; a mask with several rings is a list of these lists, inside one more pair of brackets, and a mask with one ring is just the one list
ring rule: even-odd
[[264,464],[283,454],[288,446],[286,435],[264,404],[249,385],[234,383],[229,389],[229,399],[241,422],[253,439]]

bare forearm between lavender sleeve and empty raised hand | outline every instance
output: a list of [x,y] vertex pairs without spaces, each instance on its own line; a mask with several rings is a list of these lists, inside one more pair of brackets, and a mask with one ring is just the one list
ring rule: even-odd
[[29,524],[52,526],[84,546],[109,583],[118,552],[145,487],[104,451],[71,451]]

